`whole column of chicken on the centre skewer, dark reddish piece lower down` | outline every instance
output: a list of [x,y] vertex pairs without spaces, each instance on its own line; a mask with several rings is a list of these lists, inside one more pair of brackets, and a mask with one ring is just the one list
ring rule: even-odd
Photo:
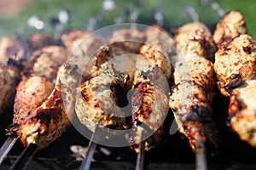
[[[147,40],[137,56],[131,98],[131,149],[139,151],[143,136],[152,134],[145,140],[145,150],[163,144],[165,136],[163,121],[168,111],[169,84],[172,79],[172,65],[169,54],[173,52],[174,41],[159,27],[146,30]],[[152,35],[152,36],[151,36]],[[143,127],[140,125],[143,124]]]

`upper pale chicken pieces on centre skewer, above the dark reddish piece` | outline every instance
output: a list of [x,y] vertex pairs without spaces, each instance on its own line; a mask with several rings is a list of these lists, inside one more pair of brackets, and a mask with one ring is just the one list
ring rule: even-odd
[[[147,78],[153,80],[154,83],[162,82],[161,78],[170,82],[172,79],[170,55],[175,46],[174,40],[158,26],[149,27],[144,34],[147,39],[140,48],[140,55],[137,55],[134,86],[145,82]],[[160,84],[158,86],[163,88]]]

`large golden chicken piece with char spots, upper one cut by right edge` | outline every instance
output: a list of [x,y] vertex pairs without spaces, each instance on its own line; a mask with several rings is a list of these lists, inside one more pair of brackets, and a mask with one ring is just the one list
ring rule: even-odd
[[218,88],[224,96],[230,96],[233,88],[255,77],[255,49],[255,40],[245,34],[235,37],[216,52],[214,70],[218,77]]

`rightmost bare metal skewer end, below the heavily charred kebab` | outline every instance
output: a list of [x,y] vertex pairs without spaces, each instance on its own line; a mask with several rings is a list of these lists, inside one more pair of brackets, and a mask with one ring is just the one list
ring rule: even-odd
[[207,155],[204,141],[196,141],[195,169],[207,170]]

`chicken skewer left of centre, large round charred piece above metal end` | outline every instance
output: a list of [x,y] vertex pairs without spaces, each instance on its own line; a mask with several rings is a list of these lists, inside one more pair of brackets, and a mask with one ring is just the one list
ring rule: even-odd
[[[119,33],[125,34],[131,39],[133,36],[131,32],[126,30],[119,30]],[[117,32],[116,32],[117,34]],[[126,37],[125,36],[125,37]],[[132,71],[122,72],[121,67],[114,67],[116,63],[111,63],[109,60],[121,54],[133,54],[138,44],[133,42],[122,42],[124,40],[117,39],[121,42],[116,42],[117,38],[114,34],[110,38],[110,44],[103,46],[96,53],[93,62],[89,65],[90,75],[89,80],[85,81],[78,88],[76,100],[76,112],[79,116],[79,121],[90,129],[94,134],[93,136],[100,135],[96,129],[106,128],[109,129],[125,129],[128,127],[126,124],[125,112],[121,111],[118,107],[119,95],[125,96],[127,90],[131,88],[133,80]],[[126,37],[127,38],[127,37]],[[141,41],[138,41],[141,42]],[[128,47],[135,49],[130,49]],[[132,59],[131,59],[132,60]],[[132,61],[130,61],[132,62]],[[114,68],[113,68],[114,67]],[[87,69],[88,70],[88,69]],[[108,139],[109,136],[102,136],[103,139]],[[96,146],[96,141],[90,141],[90,146]],[[86,156],[93,153],[95,147],[90,147]],[[90,162],[90,157],[85,157],[83,162]],[[90,166],[82,164],[80,169],[88,169]]]

